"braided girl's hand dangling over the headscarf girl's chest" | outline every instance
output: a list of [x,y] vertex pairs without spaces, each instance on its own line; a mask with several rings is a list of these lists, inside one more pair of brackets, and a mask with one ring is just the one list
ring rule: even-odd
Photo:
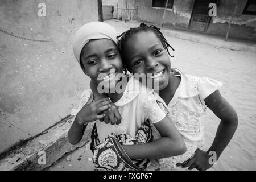
[[111,125],[118,125],[121,123],[121,114],[119,113],[117,106],[115,106],[112,102],[110,103],[110,108],[102,113],[105,114],[105,117],[104,119],[100,119],[100,121],[104,120],[106,124],[111,123]]

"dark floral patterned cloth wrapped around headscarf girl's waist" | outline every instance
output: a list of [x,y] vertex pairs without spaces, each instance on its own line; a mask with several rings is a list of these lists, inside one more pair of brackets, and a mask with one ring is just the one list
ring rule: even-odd
[[109,134],[104,142],[100,143],[97,127],[92,130],[93,163],[96,170],[106,171],[141,171],[150,165],[149,159],[131,160],[123,150],[122,145],[134,145],[151,142],[152,131],[150,122],[146,121],[138,130],[135,137],[128,134]]

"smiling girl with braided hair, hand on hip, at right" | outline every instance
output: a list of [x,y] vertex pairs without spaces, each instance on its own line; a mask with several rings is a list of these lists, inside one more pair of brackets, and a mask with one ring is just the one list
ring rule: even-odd
[[[232,139],[238,125],[236,111],[221,96],[222,83],[211,78],[185,75],[171,68],[169,49],[174,48],[164,38],[160,29],[141,23],[118,36],[123,67],[130,73],[146,73],[155,91],[168,106],[168,117],[183,137],[187,152],[183,155],[160,159],[161,169],[207,170],[220,158]],[[207,107],[221,119],[216,136],[207,151],[204,144],[203,116]],[[211,161],[210,157],[216,159]]]

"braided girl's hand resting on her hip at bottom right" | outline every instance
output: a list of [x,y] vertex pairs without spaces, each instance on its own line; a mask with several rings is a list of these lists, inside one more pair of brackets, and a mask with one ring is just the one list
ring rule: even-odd
[[196,168],[199,171],[205,171],[213,166],[209,163],[210,156],[207,152],[197,148],[193,157],[183,164],[177,164],[177,166],[188,167],[189,170]]

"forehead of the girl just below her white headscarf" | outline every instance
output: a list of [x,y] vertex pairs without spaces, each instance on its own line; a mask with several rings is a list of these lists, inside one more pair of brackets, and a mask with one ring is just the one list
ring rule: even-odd
[[81,56],[89,54],[99,54],[108,51],[109,49],[117,49],[117,45],[110,39],[95,39],[90,40],[82,48]]

